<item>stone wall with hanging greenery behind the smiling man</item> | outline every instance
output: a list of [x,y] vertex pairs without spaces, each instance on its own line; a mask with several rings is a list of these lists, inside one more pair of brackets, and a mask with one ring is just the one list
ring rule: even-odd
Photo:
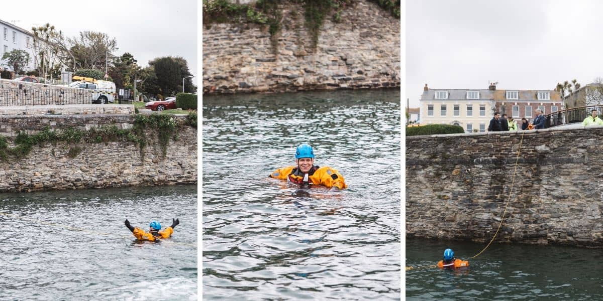
[[203,93],[286,92],[400,86],[400,20],[374,3],[357,1],[327,14],[317,49],[300,5],[282,7],[273,45],[267,25],[203,28]]

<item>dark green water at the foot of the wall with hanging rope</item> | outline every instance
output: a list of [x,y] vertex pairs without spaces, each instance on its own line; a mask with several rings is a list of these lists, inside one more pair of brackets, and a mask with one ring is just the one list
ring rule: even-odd
[[[486,243],[406,240],[406,265],[479,253]],[[493,243],[463,270],[406,271],[406,300],[603,300],[603,251],[560,246]]]

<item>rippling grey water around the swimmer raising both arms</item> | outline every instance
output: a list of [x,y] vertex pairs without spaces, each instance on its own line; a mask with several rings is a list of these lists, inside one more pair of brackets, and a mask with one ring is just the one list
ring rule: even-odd
[[[196,185],[4,193],[0,213],[0,300],[197,299]],[[172,217],[159,243],[124,226]]]

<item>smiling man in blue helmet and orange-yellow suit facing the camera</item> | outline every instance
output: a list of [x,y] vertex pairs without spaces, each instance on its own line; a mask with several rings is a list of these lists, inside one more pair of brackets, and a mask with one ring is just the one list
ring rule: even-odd
[[341,173],[332,167],[314,165],[314,150],[309,144],[300,144],[295,150],[297,166],[282,167],[270,174],[270,178],[288,180],[298,185],[323,185],[327,188],[347,188]]

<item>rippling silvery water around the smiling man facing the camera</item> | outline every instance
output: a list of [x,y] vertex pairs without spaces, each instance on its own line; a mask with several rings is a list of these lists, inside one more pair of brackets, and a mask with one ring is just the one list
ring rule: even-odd
[[[310,143],[348,190],[268,179]],[[400,299],[400,93],[203,99],[203,299]]]

